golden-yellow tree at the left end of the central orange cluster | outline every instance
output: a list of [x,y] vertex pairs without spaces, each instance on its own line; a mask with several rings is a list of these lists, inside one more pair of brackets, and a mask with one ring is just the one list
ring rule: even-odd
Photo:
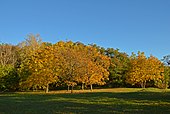
[[29,70],[31,75],[25,84],[32,88],[43,88],[49,91],[49,85],[58,81],[59,76],[59,56],[53,46],[44,44],[35,51],[29,60]]

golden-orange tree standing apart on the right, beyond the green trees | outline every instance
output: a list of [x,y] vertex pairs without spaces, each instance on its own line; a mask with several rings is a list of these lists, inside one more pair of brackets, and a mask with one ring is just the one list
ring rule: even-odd
[[130,63],[126,81],[132,85],[140,84],[142,88],[145,88],[148,81],[153,80],[156,83],[164,78],[161,61],[153,56],[147,58],[144,52],[138,52],[138,56],[133,56]]

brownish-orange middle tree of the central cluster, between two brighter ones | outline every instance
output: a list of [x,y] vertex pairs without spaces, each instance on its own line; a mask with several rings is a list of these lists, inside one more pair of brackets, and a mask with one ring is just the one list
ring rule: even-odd
[[77,85],[77,77],[81,74],[80,68],[82,67],[82,51],[80,51],[78,45],[75,43],[68,42],[58,42],[55,44],[55,50],[58,50],[60,55],[60,68],[61,79],[66,85],[73,87]]

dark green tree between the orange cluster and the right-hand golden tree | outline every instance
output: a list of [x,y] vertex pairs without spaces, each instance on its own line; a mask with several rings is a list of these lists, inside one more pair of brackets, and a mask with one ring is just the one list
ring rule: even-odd
[[109,67],[109,81],[107,82],[110,87],[123,87],[125,86],[126,73],[129,68],[129,57],[126,53],[119,52],[119,49],[108,48],[105,54],[111,58]]

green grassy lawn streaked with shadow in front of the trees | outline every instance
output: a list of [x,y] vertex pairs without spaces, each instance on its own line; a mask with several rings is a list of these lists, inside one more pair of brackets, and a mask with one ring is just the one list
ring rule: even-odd
[[57,91],[0,93],[0,114],[170,113],[170,90],[97,89],[93,92]]

